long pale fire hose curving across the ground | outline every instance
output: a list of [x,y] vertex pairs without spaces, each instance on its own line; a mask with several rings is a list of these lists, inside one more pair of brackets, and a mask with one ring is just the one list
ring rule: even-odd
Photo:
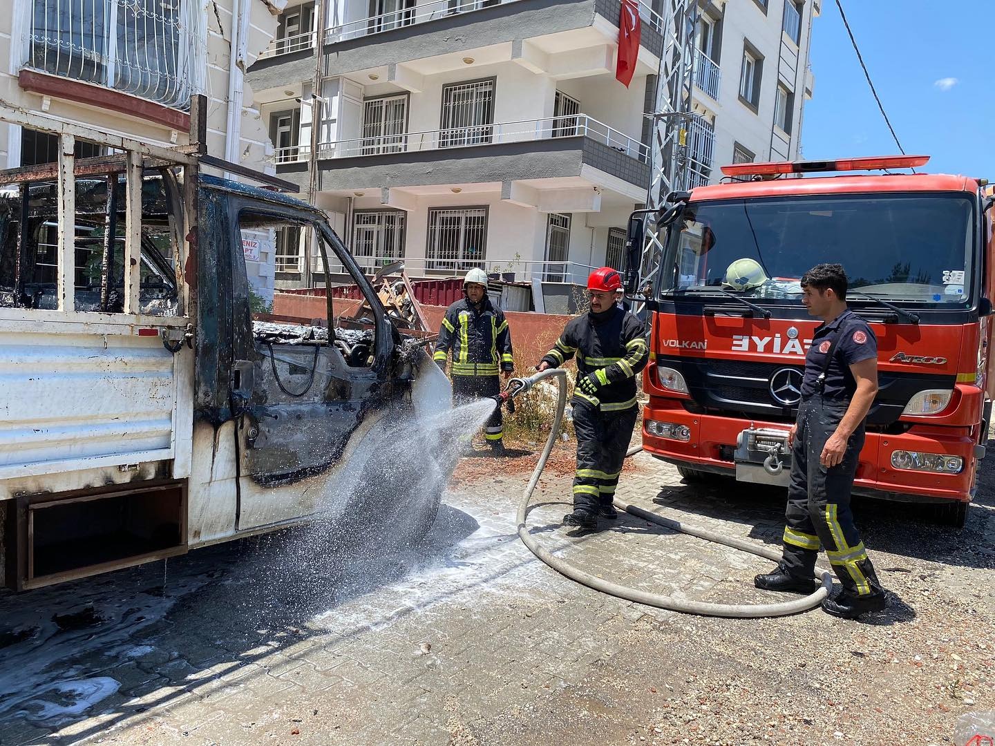
[[[525,521],[532,493],[535,491],[539,477],[542,475],[542,471],[549,459],[549,454],[552,452],[556,439],[559,436],[560,426],[563,420],[563,412],[566,408],[566,371],[562,368],[547,368],[544,371],[536,373],[530,378],[512,378],[508,381],[507,388],[504,392],[496,397],[499,406],[500,402],[511,401],[514,397],[525,393],[536,383],[546,378],[555,378],[557,384],[559,385],[559,392],[556,400],[555,419],[553,420],[553,425],[549,431],[549,438],[546,439],[545,448],[542,450],[542,455],[539,457],[539,462],[532,471],[532,476],[528,481],[528,485],[525,487],[525,491],[521,495],[521,501],[518,503],[518,538],[521,539],[522,543],[528,547],[532,554],[561,575],[564,575],[589,588],[593,588],[596,591],[617,596],[618,598],[625,599],[627,601],[633,601],[637,604],[645,604],[646,606],[653,606],[658,609],[668,609],[674,612],[695,614],[705,617],[731,617],[738,619],[784,617],[814,609],[819,606],[829,595],[829,591],[833,586],[832,575],[823,570],[822,583],[819,586],[819,589],[815,591],[815,593],[792,601],[785,601],[778,604],[711,604],[701,601],[688,601],[674,596],[664,596],[661,594],[649,593],[647,591],[640,591],[635,588],[628,588],[603,578],[596,577],[588,572],[584,572],[574,565],[571,565],[569,562],[555,556],[549,552],[549,550],[545,549],[535,540],[535,538],[532,537],[530,533],[528,533]],[[632,456],[640,451],[642,451],[642,447],[631,449],[626,456]],[[632,505],[619,497],[615,497],[614,504],[619,510],[624,510],[625,512],[635,515],[638,518],[651,521],[674,531],[680,531],[692,536],[697,536],[698,538],[705,539],[716,544],[722,544],[723,546],[738,549],[743,552],[749,552],[750,554],[755,554],[758,557],[764,557],[775,562],[781,559],[780,552],[774,549],[754,544],[753,542],[746,541],[745,539],[725,536],[717,531],[712,531],[707,528],[702,528],[690,523],[658,515],[649,510],[644,510],[637,505]]]

